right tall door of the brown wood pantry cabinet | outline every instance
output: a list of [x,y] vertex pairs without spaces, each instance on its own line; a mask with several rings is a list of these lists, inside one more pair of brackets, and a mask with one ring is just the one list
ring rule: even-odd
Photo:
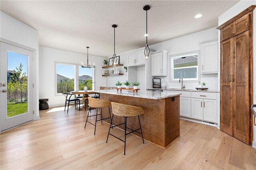
[[[239,140],[250,143],[250,92],[249,91],[249,32],[234,38],[234,64],[233,64],[233,136]],[[252,63],[251,63],[252,64]]]

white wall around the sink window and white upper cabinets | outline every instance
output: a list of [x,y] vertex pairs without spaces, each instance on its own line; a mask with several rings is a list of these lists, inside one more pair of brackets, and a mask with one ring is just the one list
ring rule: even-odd
[[[189,34],[165,42],[156,43],[150,45],[150,48],[155,49],[156,51],[165,49],[168,52],[168,76],[167,77],[158,77],[161,80],[165,81],[167,84],[166,88],[180,88],[181,83],[170,83],[170,55],[176,55],[180,53],[187,53],[190,51],[200,50],[200,43],[206,42],[208,40],[214,40],[218,38],[218,30],[216,28],[211,28],[208,30],[196,32],[194,34]],[[200,59],[200,57],[199,57]],[[200,62],[200,61],[199,61]],[[212,90],[218,89],[218,74],[205,74],[201,75],[199,81],[206,82],[207,87]],[[212,82],[212,83],[211,83]],[[187,83],[184,81],[186,89],[194,89],[198,83]]]

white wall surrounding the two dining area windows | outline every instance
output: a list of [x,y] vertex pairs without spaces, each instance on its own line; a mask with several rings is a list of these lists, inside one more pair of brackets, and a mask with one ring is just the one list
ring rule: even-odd
[[[95,62],[95,90],[99,90],[100,86],[106,86],[106,78],[102,77],[104,69],[102,69],[105,57],[89,55],[91,64]],[[39,97],[48,98],[50,107],[64,105],[65,98],[63,95],[55,94],[55,62],[84,64],[87,62],[87,54],[54,49],[39,46]]]

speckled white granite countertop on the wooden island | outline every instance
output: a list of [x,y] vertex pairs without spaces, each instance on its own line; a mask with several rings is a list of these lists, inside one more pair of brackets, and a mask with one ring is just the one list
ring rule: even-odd
[[155,99],[155,100],[182,95],[181,93],[165,93],[165,92],[161,92],[161,91],[146,91],[146,92],[138,91],[138,93],[136,93],[136,92],[133,93],[132,91],[122,90],[122,93],[121,93],[120,91],[117,92],[116,89],[100,90],[99,92],[105,93],[105,94],[111,94],[111,95],[140,97],[140,98]]

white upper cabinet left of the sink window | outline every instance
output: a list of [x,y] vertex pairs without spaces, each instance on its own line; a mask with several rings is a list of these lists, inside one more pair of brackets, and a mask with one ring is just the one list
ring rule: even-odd
[[167,76],[168,51],[156,51],[151,53],[151,76]]

